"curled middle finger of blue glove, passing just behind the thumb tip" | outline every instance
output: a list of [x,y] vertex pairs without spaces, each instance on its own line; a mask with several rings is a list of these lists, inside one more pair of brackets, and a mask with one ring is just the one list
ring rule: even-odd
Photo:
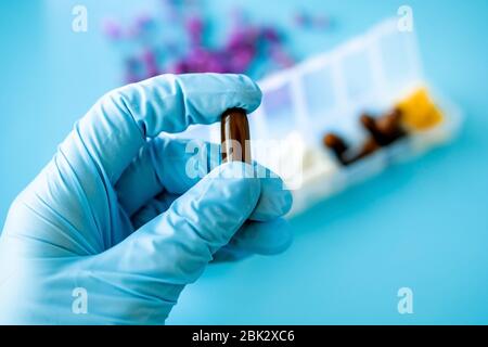
[[[195,154],[191,149],[198,149]],[[147,211],[165,211],[166,195],[181,195],[195,185],[202,177],[220,164],[220,146],[195,140],[170,140],[156,138],[141,149],[116,184],[117,196],[125,211],[141,226],[149,221]],[[292,206],[292,194],[284,189],[283,181],[269,169],[254,163],[254,171],[262,176],[262,193],[251,219],[267,221],[285,215]],[[189,168],[190,167],[190,168]],[[156,197],[155,201],[152,198]],[[160,205],[159,198],[165,201]],[[165,209],[160,209],[165,207]],[[141,216],[136,216],[142,209]],[[136,214],[137,213],[137,214]],[[151,219],[152,219],[151,218]]]

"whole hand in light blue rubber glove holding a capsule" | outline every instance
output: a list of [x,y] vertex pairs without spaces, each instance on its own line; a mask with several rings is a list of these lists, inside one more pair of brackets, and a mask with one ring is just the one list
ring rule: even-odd
[[292,201],[280,179],[244,178],[253,167],[242,163],[190,178],[194,153],[160,134],[219,121],[229,107],[252,112],[260,98],[245,76],[202,74],[97,102],[11,206],[0,322],[162,324],[214,257],[286,248],[279,217]]

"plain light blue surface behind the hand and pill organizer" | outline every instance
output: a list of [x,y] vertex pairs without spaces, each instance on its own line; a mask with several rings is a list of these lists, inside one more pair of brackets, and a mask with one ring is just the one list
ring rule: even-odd
[[[208,1],[224,17],[241,3],[258,21],[297,8],[337,18],[328,35],[292,33],[299,56],[328,50],[402,1]],[[74,121],[121,82],[101,35],[107,14],[151,1],[2,1],[0,4],[0,220],[51,158]],[[75,4],[89,30],[70,29]],[[488,2],[410,0],[425,73],[466,115],[459,139],[295,218],[284,255],[211,266],[183,292],[168,323],[488,323]],[[397,291],[414,313],[397,311]]]

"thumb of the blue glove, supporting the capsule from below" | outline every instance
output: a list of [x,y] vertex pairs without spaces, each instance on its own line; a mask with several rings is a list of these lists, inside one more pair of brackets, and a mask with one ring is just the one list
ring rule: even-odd
[[249,170],[243,163],[220,166],[97,262],[114,266],[146,295],[158,295],[157,283],[195,281],[256,207],[260,181],[246,178]]

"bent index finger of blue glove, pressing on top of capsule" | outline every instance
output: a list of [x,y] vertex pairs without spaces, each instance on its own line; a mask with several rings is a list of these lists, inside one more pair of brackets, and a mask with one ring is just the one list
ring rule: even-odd
[[230,107],[251,113],[260,100],[257,85],[243,75],[157,76],[103,97],[77,123],[60,151],[75,168],[94,165],[115,184],[146,138],[216,123]]

